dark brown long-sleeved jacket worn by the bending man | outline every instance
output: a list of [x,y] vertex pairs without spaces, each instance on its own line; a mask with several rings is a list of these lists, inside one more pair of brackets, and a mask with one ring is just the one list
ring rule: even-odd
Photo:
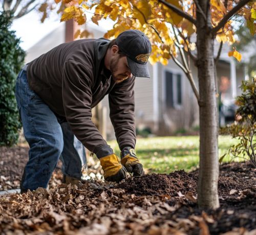
[[107,145],[92,122],[91,109],[109,94],[110,118],[119,147],[135,147],[135,77],[115,83],[104,68],[109,40],[81,39],[61,44],[29,63],[29,88],[57,115],[66,117],[90,151]]

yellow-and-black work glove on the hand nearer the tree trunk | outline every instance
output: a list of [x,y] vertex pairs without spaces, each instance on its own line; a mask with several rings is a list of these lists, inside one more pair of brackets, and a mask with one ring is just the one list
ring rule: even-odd
[[142,176],[144,174],[143,166],[140,164],[134,148],[126,146],[121,152],[121,164],[127,172],[133,173],[133,176]]

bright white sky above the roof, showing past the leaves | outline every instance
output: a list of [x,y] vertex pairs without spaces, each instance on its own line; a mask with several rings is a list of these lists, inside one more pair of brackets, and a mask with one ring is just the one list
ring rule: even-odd
[[[86,14],[88,23],[95,25],[90,20],[92,15],[90,13]],[[21,18],[15,19],[11,26],[11,30],[16,31],[16,36],[22,41],[20,47],[25,51],[59,27],[60,24],[65,24],[64,22],[60,22],[60,16],[57,15],[57,13],[52,13],[49,18],[46,18],[44,23],[41,23],[40,19],[40,13],[34,10]],[[114,22],[111,19],[101,20],[101,22],[99,22],[100,28],[104,30],[111,29],[113,25]],[[95,25],[95,27],[97,27],[97,25]]]

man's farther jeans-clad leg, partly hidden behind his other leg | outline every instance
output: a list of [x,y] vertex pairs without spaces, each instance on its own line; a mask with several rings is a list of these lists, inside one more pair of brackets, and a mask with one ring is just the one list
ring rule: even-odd
[[62,122],[60,126],[64,141],[63,152],[60,156],[60,160],[62,162],[61,172],[63,177],[68,176],[81,180],[81,168],[83,166],[86,168],[87,166],[86,151],[82,143],[71,131],[68,122]]

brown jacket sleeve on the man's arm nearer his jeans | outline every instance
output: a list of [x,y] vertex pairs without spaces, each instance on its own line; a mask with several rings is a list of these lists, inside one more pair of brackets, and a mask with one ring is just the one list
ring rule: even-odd
[[93,74],[80,62],[67,61],[62,76],[63,107],[71,130],[89,151],[97,153],[108,144],[91,120]]

